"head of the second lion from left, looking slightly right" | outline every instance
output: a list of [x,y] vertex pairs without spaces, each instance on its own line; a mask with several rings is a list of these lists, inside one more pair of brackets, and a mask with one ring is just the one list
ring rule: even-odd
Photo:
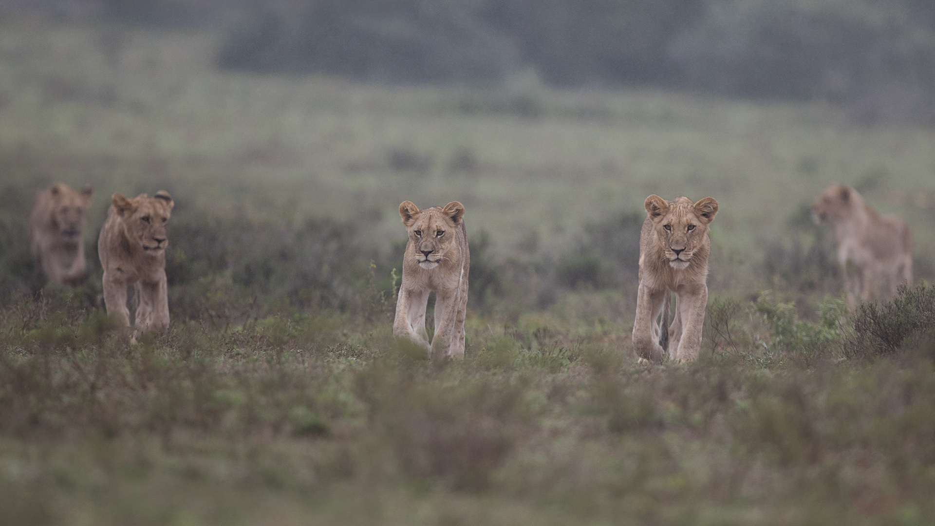
[[165,252],[169,243],[165,224],[175,206],[168,192],[160,190],[155,197],[140,194],[132,198],[114,194],[111,201],[114,210],[120,215],[127,240],[139,243],[143,252],[150,256],[159,256]]

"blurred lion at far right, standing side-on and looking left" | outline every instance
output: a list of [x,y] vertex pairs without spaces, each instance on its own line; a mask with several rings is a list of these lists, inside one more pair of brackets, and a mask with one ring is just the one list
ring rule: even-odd
[[857,191],[832,183],[812,203],[814,223],[834,224],[847,303],[886,300],[913,283],[913,236],[899,217],[881,216]]

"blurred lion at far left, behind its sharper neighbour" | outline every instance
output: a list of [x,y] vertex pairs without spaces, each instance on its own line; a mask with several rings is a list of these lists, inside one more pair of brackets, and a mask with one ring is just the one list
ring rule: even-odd
[[88,275],[84,212],[92,197],[91,186],[77,192],[63,183],[36,194],[29,215],[29,244],[39,268],[53,283],[79,285]]

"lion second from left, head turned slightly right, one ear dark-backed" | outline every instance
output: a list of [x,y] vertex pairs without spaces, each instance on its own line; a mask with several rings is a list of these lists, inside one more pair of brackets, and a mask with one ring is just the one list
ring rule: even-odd
[[165,190],[154,197],[114,194],[108,218],[97,239],[97,255],[104,267],[104,305],[123,327],[130,328],[127,286],[137,293],[137,322],[131,342],[150,330],[169,327],[165,281],[165,224],[175,203]]

